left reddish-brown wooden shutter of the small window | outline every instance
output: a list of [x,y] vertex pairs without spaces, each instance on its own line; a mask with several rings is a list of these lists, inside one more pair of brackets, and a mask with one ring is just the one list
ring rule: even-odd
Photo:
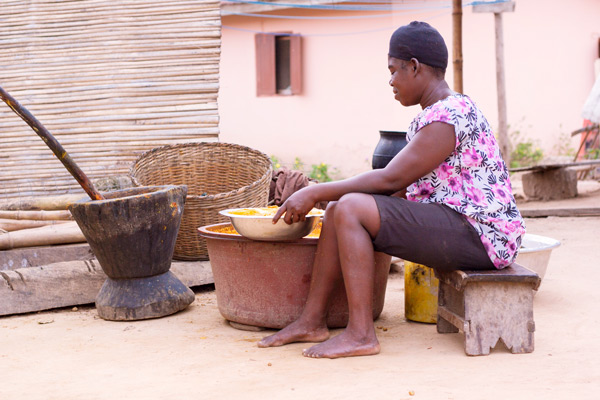
[[256,95],[276,94],[275,82],[275,35],[257,33],[256,44]]

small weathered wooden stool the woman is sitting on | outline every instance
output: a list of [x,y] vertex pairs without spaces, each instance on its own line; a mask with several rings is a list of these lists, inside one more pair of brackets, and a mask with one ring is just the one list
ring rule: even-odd
[[438,333],[465,334],[465,353],[487,355],[502,340],[513,353],[533,351],[533,295],[541,282],[513,263],[501,270],[438,272]]

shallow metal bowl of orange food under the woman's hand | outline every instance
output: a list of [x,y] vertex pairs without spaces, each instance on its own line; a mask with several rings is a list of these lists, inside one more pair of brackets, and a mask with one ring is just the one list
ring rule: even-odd
[[241,209],[230,208],[219,211],[219,213],[231,219],[231,224],[240,235],[248,239],[264,241],[297,240],[303,238],[315,229],[322,216],[307,215],[305,221],[294,222],[288,225],[283,218],[280,218],[274,224],[272,216],[238,215],[231,213],[236,210]]

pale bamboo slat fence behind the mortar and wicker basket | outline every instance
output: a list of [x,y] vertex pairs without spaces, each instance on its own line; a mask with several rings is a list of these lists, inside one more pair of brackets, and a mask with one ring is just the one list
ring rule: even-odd
[[[2,0],[0,86],[92,180],[144,151],[218,140],[215,0]],[[0,199],[80,192],[0,102]]]

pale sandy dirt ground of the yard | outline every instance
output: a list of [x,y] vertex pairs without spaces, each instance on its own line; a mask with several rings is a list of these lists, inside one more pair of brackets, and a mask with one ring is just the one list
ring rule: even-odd
[[[555,205],[598,207],[600,188]],[[561,241],[535,296],[531,354],[499,344],[468,357],[460,334],[407,321],[397,272],[375,322],[381,354],[337,360],[302,357],[306,344],[259,349],[269,331],[229,326],[205,287],[156,320],[105,321],[93,305],[0,318],[0,399],[597,399],[600,217],[526,223]]]

